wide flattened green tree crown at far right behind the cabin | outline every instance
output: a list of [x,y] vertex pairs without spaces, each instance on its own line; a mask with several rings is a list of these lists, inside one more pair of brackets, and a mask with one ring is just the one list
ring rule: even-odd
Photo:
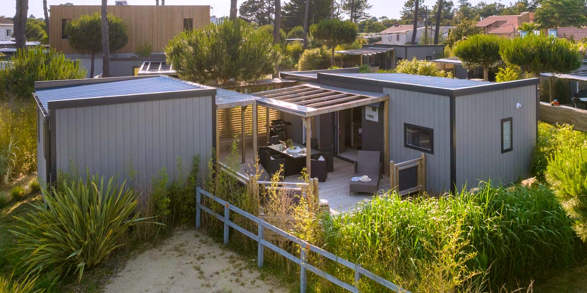
[[506,63],[537,75],[543,72],[568,73],[578,69],[582,60],[576,44],[544,35],[528,35],[504,42],[500,54]]

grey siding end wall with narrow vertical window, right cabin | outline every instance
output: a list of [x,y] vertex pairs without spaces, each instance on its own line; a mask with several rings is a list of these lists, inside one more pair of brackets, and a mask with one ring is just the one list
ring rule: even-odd
[[[513,149],[501,154],[501,119],[509,117]],[[457,97],[456,140],[457,186],[527,178],[536,141],[536,86]]]

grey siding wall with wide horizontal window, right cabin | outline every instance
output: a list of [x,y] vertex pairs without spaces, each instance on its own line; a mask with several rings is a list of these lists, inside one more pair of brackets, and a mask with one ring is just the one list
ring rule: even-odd
[[[434,154],[426,154],[426,185],[433,192],[450,190],[450,98],[436,94],[383,88],[389,94],[389,159],[396,163],[419,158],[421,151],[404,147],[404,123],[434,130]],[[382,117],[383,118],[383,117]]]

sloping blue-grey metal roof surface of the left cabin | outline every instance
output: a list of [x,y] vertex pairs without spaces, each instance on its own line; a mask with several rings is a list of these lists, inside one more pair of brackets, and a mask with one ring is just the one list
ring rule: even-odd
[[[68,86],[42,87],[39,84],[55,83],[59,81],[46,81],[45,83],[35,84],[35,95],[37,102],[42,105],[46,113],[49,113],[50,101],[62,100],[79,100],[86,98],[103,98],[132,96],[139,94],[169,93],[176,91],[189,91],[210,88],[201,84],[190,83],[181,79],[174,79],[168,76],[152,76],[143,78],[134,78],[129,80],[116,80],[99,82],[100,80],[85,80],[89,84],[72,84]],[[72,80],[75,83],[77,80]],[[79,80],[83,82],[84,80]],[[93,81],[93,82],[92,82]],[[67,81],[61,81],[67,82]]]

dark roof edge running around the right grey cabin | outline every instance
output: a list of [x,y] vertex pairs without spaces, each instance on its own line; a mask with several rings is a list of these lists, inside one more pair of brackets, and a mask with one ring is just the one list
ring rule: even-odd
[[453,89],[453,88],[443,88],[443,87],[421,86],[419,84],[406,84],[406,83],[399,83],[396,81],[389,81],[389,80],[373,80],[373,79],[368,79],[368,78],[363,78],[363,77],[355,77],[355,76],[340,76],[338,74],[329,74],[329,73],[318,73],[317,76],[318,76],[318,83],[321,83],[321,80],[336,80],[336,81],[342,81],[342,82],[346,82],[346,83],[360,83],[360,84],[364,84],[366,86],[389,87],[389,88],[396,88],[398,90],[417,91],[420,93],[438,94],[440,96],[448,96],[448,97],[465,96],[468,94],[483,93],[486,91],[506,90],[508,88],[514,88],[514,87],[531,86],[531,85],[536,85],[539,82],[539,80],[537,78],[533,78],[533,79],[506,81],[503,83],[480,84],[478,86]]

